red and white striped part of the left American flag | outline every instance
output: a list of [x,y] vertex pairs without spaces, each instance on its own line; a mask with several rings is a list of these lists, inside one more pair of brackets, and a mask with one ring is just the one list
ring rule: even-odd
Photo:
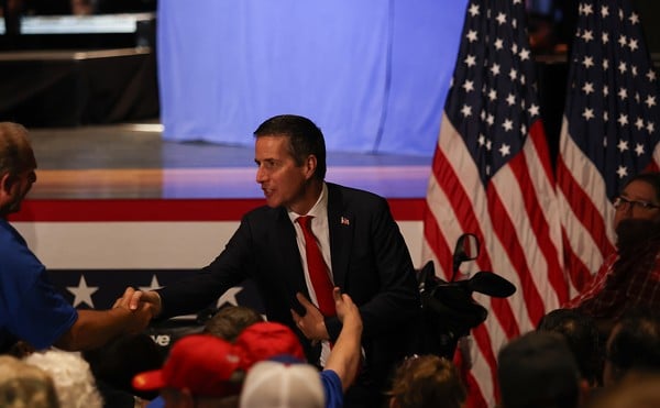
[[[538,163],[539,168],[547,166],[548,162],[539,163],[536,156],[538,154],[532,143],[526,144],[525,153],[531,158],[520,158],[520,165],[512,164],[510,168],[503,167],[502,176],[498,174],[493,178],[493,187],[488,189],[488,196],[483,196],[481,191],[482,185],[479,181],[477,169],[474,163],[461,159],[468,153],[465,145],[462,143],[460,135],[451,125],[451,122],[444,118],[442,121],[442,130],[439,141],[439,148],[433,161],[433,173],[429,186],[429,195],[427,197],[429,211],[433,217],[427,218],[425,228],[433,231],[435,235],[426,234],[426,243],[433,249],[443,249],[437,253],[438,258],[443,260],[441,268],[446,279],[451,277],[451,252],[453,242],[460,233],[457,233],[453,224],[458,225],[461,231],[471,231],[476,233],[482,243],[488,243],[487,247],[482,246],[482,255],[477,262],[479,268],[486,271],[495,271],[509,279],[516,287],[519,288],[518,295],[509,299],[492,299],[486,296],[475,294],[475,300],[485,306],[490,306],[491,315],[485,326],[473,331],[473,337],[477,345],[476,354],[474,355],[473,381],[479,388],[494,398],[496,390],[495,378],[495,355],[501,345],[508,339],[518,335],[521,331],[527,331],[534,328],[538,319],[544,310],[549,310],[559,305],[558,297],[552,297],[550,301],[543,299],[538,288],[542,293],[554,289],[549,287],[548,282],[551,279],[554,285],[561,287],[563,276],[561,268],[557,271],[559,274],[549,274],[550,279],[546,280],[542,275],[537,277],[530,274],[530,271],[548,271],[549,265],[557,266],[559,264],[558,238],[550,236],[551,229],[547,214],[536,211],[535,219],[540,220],[543,225],[534,236],[524,236],[529,245],[539,245],[531,251],[529,247],[522,249],[516,231],[532,231],[531,222],[528,213],[535,214],[534,207],[539,202],[536,195],[530,195],[530,191],[547,190],[552,186],[549,174],[546,172],[537,172],[535,176],[530,176],[529,172],[524,172],[526,162]],[[529,139],[530,141],[534,137]],[[541,139],[542,140],[542,139]],[[541,144],[542,145],[542,144]],[[528,148],[529,147],[529,148]],[[547,153],[544,148],[540,148],[541,153]],[[444,154],[447,152],[447,154]],[[516,157],[517,159],[518,157]],[[514,159],[513,162],[517,162]],[[514,170],[515,167],[520,167]],[[518,175],[515,175],[518,173]],[[525,175],[527,173],[527,175]],[[460,175],[460,176],[459,176]],[[438,180],[443,180],[442,185]],[[512,183],[515,180],[515,183]],[[502,196],[506,201],[499,199],[495,186],[499,185],[499,189],[505,194]],[[539,186],[540,185],[540,186]],[[468,191],[475,191],[468,194]],[[525,198],[524,198],[525,197]],[[541,195],[542,197],[542,195]],[[550,197],[551,199],[551,197]],[[509,202],[510,201],[510,202]],[[481,203],[481,205],[480,205]],[[491,208],[487,208],[488,203]],[[550,207],[550,206],[548,206]],[[480,212],[477,214],[477,212]],[[556,213],[557,211],[554,211]],[[517,214],[517,221],[513,221],[508,214]],[[552,212],[548,211],[548,214]],[[493,217],[491,214],[494,214]],[[491,225],[491,220],[496,219],[506,225]],[[436,230],[438,225],[436,220],[446,220],[450,224],[449,228]],[[504,235],[497,235],[498,231],[507,231]],[[554,229],[554,234],[558,235],[558,228]],[[508,245],[503,245],[502,242],[508,242]],[[512,252],[515,247],[515,252]],[[496,256],[491,262],[492,253],[499,253],[505,256]],[[539,255],[541,253],[541,255]],[[549,256],[547,254],[550,254]],[[482,257],[483,256],[483,257]],[[512,261],[515,260],[515,261]],[[509,265],[515,267],[512,269]],[[559,277],[559,279],[558,279]],[[559,284],[558,284],[559,282]],[[525,283],[525,284],[522,284]],[[565,291],[565,290],[564,290]],[[483,367],[485,372],[481,372],[479,367]],[[487,367],[487,368],[486,368]],[[490,399],[491,401],[493,399]],[[474,403],[474,401],[473,401]]]

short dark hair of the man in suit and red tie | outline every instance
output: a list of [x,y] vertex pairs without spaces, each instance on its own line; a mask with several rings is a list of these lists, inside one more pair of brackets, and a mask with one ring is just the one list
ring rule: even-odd
[[312,121],[296,114],[280,114],[267,119],[254,131],[255,137],[277,135],[288,137],[289,152],[298,166],[314,154],[317,158],[315,177],[320,180],[326,178],[326,141]]

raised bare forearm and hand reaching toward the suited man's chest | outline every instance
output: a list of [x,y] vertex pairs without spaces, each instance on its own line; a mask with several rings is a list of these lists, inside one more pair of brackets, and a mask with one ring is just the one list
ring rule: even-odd
[[324,368],[337,373],[341,379],[342,389],[345,392],[355,381],[360,367],[362,318],[360,309],[349,295],[342,295],[337,287],[332,295],[334,296],[337,317],[343,324]]

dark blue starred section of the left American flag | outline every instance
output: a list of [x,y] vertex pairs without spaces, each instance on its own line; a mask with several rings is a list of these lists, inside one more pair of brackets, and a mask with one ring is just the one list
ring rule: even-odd
[[[521,1],[514,4],[521,4]],[[502,167],[507,156],[522,146],[538,106],[530,100],[532,92],[522,73],[534,69],[531,52],[526,41],[512,33],[518,23],[501,10],[485,3],[468,7],[464,38],[461,44],[460,69],[454,71],[448,98],[460,104],[451,106],[448,117],[464,135],[485,183]],[[483,14],[492,19],[483,19]],[[522,33],[521,31],[519,31]],[[487,148],[493,145],[493,150]]]

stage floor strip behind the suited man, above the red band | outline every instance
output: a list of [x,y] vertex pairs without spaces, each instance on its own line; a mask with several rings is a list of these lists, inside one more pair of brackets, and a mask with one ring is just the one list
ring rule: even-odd
[[[38,163],[30,198],[262,197],[252,147],[164,142],[161,131],[157,122],[30,129]],[[430,164],[430,155],[329,152],[327,180],[422,198]]]

